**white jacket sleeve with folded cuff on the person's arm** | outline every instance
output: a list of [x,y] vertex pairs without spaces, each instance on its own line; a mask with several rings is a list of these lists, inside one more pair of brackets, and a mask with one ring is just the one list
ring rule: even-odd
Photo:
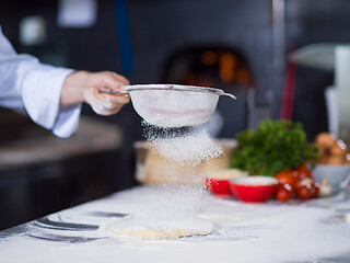
[[63,81],[70,72],[72,69],[19,55],[0,26],[0,106],[26,112],[36,124],[67,138],[77,130],[81,112],[81,104],[59,106]]

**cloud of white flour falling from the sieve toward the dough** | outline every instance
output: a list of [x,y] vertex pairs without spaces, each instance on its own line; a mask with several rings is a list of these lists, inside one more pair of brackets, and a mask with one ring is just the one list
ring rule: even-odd
[[[199,224],[196,215],[203,196],[208,194],[205,190],[205,174],[200,168],[222,156],[222,147],[210,138],[203,127],[163,128],[145,122],[142,122],[142,126],[147,141],[168,164],[164,170],[167,171],[166,182],[156,187],[160,201],[152,213],[152,220],[164,222],[186,219],[186,224],[190,221]],[[188,174],[190,174],[191,182],[188,182]],[[174,180],[173,176],[176,176],[177,180]],[[182,176],[187,176],[187,180],[178,183],[182,182]],[[208,226],[211,226],[211,222],[205,221],[202,226],[207,229],[205,232],[208,232]],[[198,230],[198,232],[202,231]]]

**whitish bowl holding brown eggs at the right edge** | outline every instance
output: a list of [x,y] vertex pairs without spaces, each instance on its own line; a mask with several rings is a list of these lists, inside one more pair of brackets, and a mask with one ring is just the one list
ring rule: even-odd
[[322,183],[327,178],[328,184],[332,188],[332,194],[338,193],[341,188],[349,185],[350,182],[350,164],[317,164],[312,170],[315,182]]

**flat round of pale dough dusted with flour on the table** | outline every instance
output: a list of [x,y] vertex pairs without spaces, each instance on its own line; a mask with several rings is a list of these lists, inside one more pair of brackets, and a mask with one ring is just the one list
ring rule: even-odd
[[213,230],[211,221],[197,218],[144,218],[127,216],[114,219],[101,227],[107,235],[141,239],[177,239],[209,235]]

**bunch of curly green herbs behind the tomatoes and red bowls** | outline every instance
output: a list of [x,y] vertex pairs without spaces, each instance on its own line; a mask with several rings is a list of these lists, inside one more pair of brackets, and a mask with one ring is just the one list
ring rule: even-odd
[[317,148],[306,141],[301,123],[267,119],[257,130],[245,130],[236,138],[238,148],[231,167],[250,174],[272,176],[318,158]]

